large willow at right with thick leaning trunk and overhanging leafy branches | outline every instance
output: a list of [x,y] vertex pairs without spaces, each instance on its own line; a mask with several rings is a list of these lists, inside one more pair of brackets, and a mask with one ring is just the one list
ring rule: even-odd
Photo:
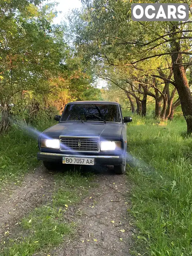
[[[76,37],[85,59],[111,66],[132,67],[147,75],[159,74],[156,64],[148,67],[150,59],[154,63],[168,60],[187,122],[187,132],[192,133],[192,96],[184,68],[191,64],[191,15],[187,22],[137,22],[131,20],[131,2],[93,0],[85,1],[85,4],[81,16],[84,23],[77,28]],[[184,60],[184,56],[188,58]],[[173,79],[167,78],[166,81],[172,83]]]

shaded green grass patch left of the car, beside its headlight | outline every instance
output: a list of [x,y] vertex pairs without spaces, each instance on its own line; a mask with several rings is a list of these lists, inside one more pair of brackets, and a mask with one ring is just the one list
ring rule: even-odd
[[54,123],[39,122],[30,130],[13,125],[8,134],[0,136],[0,188],[9,181],[19,182],[28,169],[38,165],[38,131],[44,131]]

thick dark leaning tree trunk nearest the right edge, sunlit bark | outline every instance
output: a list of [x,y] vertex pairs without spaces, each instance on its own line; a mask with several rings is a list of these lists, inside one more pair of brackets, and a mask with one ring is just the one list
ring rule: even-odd
[[[175,32],[178,28],[176,25],[172,27],[172,31]],[[180,40],[176,37],[176,34],[172,35],[173,41],[171,41],[171,51],[172,52],[181,52],[180,49]],[[192,95],[188,85],[188,80],[186,77],[185,69],[182,66],[182,54],[181,53],[172,53],[172,67],[173,75],[175,81],[175,87],[179,94],[181,108],[183,116],[185,117],[187,123],[187,133],[192,133]]]

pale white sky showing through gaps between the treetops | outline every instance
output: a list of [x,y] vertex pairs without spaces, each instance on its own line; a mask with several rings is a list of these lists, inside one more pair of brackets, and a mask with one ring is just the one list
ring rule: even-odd
[[[59,24],[62,20],[65,20],[66,14],[72,9],[80,9],[82,7],[80,0],[56,0],[56,2],[59,4],[55,7],[58,11],[57,17],[53,20],[55,24]],[[97,88],[100,89],[107,85],[106,81],[101,78],[98,78],[97,84]]]

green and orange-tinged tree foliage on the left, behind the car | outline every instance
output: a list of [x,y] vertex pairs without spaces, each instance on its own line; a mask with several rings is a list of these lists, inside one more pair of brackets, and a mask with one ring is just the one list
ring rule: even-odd
[[9,122],[4,116],[32,123],[39,111],[62,112],[68,101],[100,98],[91,69],[66,43],[65,24],[52,23],[54,7],[1,0],[0,132]]

